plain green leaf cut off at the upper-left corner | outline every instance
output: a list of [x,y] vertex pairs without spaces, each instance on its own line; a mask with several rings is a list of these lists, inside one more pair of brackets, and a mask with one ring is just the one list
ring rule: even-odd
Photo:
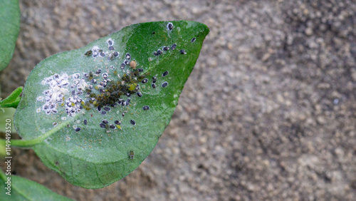
[[6,68],[14,54],[19,29],[19,1],[0,1],[0,71]]

